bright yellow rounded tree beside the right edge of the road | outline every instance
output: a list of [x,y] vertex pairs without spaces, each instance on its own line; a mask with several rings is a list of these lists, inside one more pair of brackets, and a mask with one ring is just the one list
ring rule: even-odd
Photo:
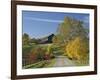
[[81,37],[76,37],[68,43],[65,51],[65,54],[67,54],[68,57],[80,60],[85,57],[89,51],[88,41]]

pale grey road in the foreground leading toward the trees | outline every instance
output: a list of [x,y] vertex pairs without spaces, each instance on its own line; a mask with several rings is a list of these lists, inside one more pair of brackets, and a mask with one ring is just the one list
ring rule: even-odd
[[55,64],[53,67],[66,67],[66,66],[76,66],[76,64],[68,59],[66,56],[58,56],[55,59]]

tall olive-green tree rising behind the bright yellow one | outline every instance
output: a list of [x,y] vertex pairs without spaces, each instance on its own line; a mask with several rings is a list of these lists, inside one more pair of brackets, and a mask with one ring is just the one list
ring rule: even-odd
[[57,29],[57,35],[54,37],[53,42],[66,44],[77,36],[87,36],[83,27],[83,22],[70,17],[65,17],[64,21]]

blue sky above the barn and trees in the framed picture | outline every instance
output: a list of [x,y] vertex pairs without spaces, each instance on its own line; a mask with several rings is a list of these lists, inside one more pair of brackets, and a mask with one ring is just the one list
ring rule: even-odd
[[29,34],[31,38],[41,38],[56,33],[65,16],[81,20],[85,27],[89,28],[89,14],[22,11],[23,33]]

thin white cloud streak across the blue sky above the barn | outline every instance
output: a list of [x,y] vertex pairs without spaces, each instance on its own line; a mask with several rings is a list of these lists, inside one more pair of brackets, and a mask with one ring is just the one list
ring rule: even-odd
[[32,17],[25,17],[25,19],[33,20],[33,21],[50,22],[50,23],[60,23],[60,22],[63,22],[63,20],[51,20],[51,19],[32,18]]

